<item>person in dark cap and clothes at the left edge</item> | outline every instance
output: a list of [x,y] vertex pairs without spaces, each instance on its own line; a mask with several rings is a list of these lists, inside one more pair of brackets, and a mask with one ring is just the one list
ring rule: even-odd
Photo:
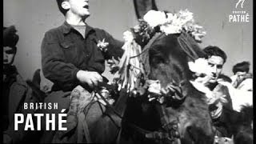
[[[18,131],[14,131],[14,114],[22,113],[22,103],[32,101],[32,90],[18,74],[13,65],[17,53],[18,34],[14,26],[3,28],[3,142],[17,142],[22,137]],[[19,140],[18,140],[19,139]],[[17,140],[17,141],[15,141]]]

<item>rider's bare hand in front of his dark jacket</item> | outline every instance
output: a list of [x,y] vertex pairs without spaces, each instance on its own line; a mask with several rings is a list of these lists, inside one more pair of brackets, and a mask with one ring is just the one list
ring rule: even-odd
[[98,86],[98,82],[102,82],[103,78],[95,71],[79,70],[77,78],[82,83],[87,83],[90,87]]

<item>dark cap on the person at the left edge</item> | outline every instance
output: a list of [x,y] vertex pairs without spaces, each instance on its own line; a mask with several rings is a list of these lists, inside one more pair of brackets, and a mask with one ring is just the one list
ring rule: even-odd
[[3,46],[15,47],[18,42],[18,34],[15,26],[3,27]]

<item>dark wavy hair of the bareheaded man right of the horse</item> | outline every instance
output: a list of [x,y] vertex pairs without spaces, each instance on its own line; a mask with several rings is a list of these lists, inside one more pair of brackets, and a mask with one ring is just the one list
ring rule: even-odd
[[226,62],[226,53],[218,46],[206,46],[206,48],[204,48],[203,51],[206,53],[208,58],[210,58],[213,55],[219,56],[223,58],[223,61],[224,61],[223,63]]

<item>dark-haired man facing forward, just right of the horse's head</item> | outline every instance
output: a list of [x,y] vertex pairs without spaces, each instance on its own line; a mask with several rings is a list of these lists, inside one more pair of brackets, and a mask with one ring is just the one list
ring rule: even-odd
[[208,56],[211,71],[210,81],[206,82],[206,86],[213,91],[213,94],[219,94],[219,97],[226,99],[226,102],[217,100],[210,103],[210,114],[218,131],[218,136],[231,137],[230,127],[225,122],[229,122],[226,111],[233,110],[232,100],[228,88],[218,83],[218,77],[222,73],[223,65],[226,62],[226,54],[218,46],[207,46],[203,51]]

